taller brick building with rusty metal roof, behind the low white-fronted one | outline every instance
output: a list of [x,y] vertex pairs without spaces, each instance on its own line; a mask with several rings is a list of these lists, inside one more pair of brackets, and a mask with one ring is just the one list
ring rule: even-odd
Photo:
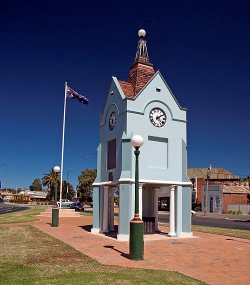
[[[206,184],[207,168],[187,168],[187,176],[192,182],[192,207],[201,207],[201,187]],[[238,182],[239,177],[222,167],[212,168],[209,173],[209,184],[220,182]]]

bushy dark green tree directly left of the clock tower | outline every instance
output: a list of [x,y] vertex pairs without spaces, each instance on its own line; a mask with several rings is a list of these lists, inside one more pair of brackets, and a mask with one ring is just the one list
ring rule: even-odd
[[89,200],[89,196],[92,194],[92,183],[96,177],[96,168],[88,169],[81,171],[81,174],[78,176],[78,185],[76,186],[77,190],[80,192],[83,201]]

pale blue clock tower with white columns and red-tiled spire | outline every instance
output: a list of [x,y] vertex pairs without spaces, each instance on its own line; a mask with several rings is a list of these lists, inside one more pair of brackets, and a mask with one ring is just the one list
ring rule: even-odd
[[169,236],[191,236],[191,182],[186,175],[186,109],[150,63],[139,30],[126,82],[112,77],[100,114],[92,233],[114,230],[114,189],[119,193],[118,240],[129,239],[134,214],[135,159],[130,138],[144,139],[139,156],[139,214],[155,217],[158,196],[169,196]]

